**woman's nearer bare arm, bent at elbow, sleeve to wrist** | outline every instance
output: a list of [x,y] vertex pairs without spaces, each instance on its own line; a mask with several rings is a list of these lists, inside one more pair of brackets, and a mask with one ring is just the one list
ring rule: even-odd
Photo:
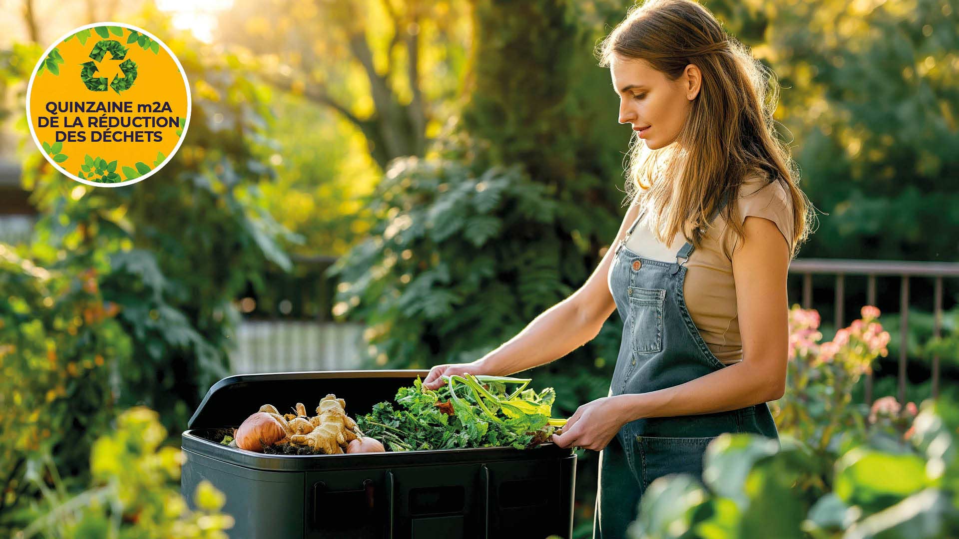
[[788,246],[772,221],[748,216],[743,225],[748,242],[733,252],[742,361],[679,386],[621,395],[626,397],[621,406],[627,421],[737,410],[783,396],[789,346]]

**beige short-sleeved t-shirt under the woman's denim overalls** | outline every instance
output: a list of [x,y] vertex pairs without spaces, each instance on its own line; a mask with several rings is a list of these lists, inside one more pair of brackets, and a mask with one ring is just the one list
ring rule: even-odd
[[[747,216],[768,219],[783,233],[790,252],[793,223],[792,202],[779,181],[765,184],[760,176],[749,176],[739,189],[738,215],[740,224]],[[676,262],[676,253],[686,243],[682,233],[677,233],[672,245],[667,247],[653,237],[647,223],[648,212],[636,225],[626,247],[637,254],[654,260]],[[713,355],[721,363],[742,361],[742,340],[739,335],[739,318],[736,305],[736,285],[733,280],[733,261],[723,254],[719,239],[728,223],[723,215],[716,216],[706,231],[702,246],[696,247],[686,263],[686,282],[683,294],[686,306],[699,335],[706,341]],[[738,245],[735,232],[729,231],[726,242],[733,252]]]

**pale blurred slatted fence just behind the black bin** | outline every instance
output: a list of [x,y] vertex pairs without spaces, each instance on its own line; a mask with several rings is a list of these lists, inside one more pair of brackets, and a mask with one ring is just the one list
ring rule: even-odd
[[230,373],[363,368],[363,324],[245,321],[237,329]]

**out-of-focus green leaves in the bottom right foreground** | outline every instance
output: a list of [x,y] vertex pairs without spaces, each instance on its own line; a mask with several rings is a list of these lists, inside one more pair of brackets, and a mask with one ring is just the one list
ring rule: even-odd
[[[868,441],[837,459],[792,436],[779,449],[758,435],[722,434],[706,450],[702,481],[670,474],[649,484],[630,537],[954,537],[959,404],[898,407],[877,410]],[[904,434],[901,423],[911,423]],[[822,477],[826,492],[797,486]]]

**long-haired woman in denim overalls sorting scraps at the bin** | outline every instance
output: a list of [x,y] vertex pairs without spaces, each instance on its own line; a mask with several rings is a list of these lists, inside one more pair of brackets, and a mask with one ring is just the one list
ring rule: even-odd
[[632,139],[633,203],[614,248],[515,338],[476,362],[433,367],[424,385],[549,363],[618,310],[609,395],[579,407],[552,440],[601,451],[595,537],[620,538],[652,480],[701,480],[719,434],[779,439],[766,402],[784,392],[786,273],[810,210],[774,136],[775,81],[712,13],[691,0],[648,1],[597,53],[620,124],[642,139]]

